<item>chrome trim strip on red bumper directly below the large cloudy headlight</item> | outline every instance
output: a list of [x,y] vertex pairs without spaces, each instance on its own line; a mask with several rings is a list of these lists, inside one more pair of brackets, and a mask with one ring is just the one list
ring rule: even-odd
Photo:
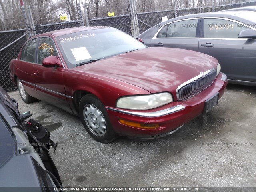
[[169,114],[178,112],[180,110],[185,109],[185,107],[183,105],[176,105],[176,106],[173,106],[164,110],[160,110],[160,111],[155,111],[155,112],[133,112],[133,111],[126,111],[126,110],[110,108],[110,107],[106,107],[106,109],[128,114],[128,115],[140,116],[140,117],[160,117],[160,116],[169,115]]

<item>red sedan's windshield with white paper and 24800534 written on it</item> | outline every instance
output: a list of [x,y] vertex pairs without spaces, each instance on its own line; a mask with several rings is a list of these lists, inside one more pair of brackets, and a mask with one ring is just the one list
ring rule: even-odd
[[90,60],[104,59],[146,48],[144,44],[115,28],[101,28],[56,37],[62,55],[73,68]]

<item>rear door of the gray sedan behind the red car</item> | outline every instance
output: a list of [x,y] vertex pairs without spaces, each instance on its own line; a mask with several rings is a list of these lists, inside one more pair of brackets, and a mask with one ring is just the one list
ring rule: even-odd
[[168,23],[152,38],[151,47],[172,47],[198,50],[200,19],[185,19]]

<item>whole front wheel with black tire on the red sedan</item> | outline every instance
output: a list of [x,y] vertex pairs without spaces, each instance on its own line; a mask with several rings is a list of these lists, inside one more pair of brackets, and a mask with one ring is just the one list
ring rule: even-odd
[[96,141],[109,143],[116,139],[104,104],[94,95],[85,95],[79,103],[79,115],[86,131]]

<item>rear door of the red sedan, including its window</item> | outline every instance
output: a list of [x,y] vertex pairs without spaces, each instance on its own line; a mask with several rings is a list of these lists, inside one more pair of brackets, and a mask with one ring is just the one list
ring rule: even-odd
[[33,67],[36,61],[36,48],[38,38],[28,41],[22,48],[20,60],[16,63],[17,77],[20,79],[26,92],[35,98],[38,98],[34,85],[34,72]]

